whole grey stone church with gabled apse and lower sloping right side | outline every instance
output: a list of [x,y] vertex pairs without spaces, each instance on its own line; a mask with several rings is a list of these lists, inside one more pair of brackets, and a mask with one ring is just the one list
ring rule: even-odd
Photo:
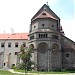
[[32,17],[28,36],[35,70],[75,68],[75,42],[65,36],[60,18],[48,5]]

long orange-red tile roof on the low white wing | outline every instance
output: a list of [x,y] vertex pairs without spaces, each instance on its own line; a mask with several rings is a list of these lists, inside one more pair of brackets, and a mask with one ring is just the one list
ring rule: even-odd
[[1,39],[28,39],[28,33],[0,34]]

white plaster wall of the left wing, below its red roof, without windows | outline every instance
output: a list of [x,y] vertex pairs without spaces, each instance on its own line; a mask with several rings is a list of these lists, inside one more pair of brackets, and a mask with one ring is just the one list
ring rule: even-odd
[[[5,43],[5,47],[1,47],[1,43],[4,42]],[[11,47],[8,47],[8,43],[11,42]],[[18,42],[18,47],[15,47],[15,43]],[[5,63],[7,67],[7,63],[8,63],[8,55],[10,54],[10,67],[12,66],[12,64],[17,63],[17,55],[15,55],[15,52],[19,52],[20,51],[20,46],[23,44],[23,42],[26,42],[26,47],[28,45],[28,40],[0,40],[0,53],[4,52],[3,58],[1,58],[1,63]],[[2,60],[4,62],[2,62]],[[0,64],[0,66],[2,66],[2,64]]]

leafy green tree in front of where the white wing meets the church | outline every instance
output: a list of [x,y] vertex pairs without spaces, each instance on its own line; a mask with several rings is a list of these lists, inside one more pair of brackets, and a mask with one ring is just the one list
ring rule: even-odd
[[33,64],[31,61],[31,49],[31,47],[28,49],[21,45],[18,56],[21,58],[22,62],[18,65],[19,69],[25,69],[27,71],[31,70],[31,65]]

